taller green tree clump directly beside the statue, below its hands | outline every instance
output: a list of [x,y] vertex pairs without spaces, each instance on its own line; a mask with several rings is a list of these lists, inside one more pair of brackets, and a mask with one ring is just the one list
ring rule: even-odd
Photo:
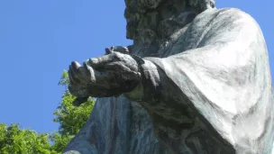
[[85,104],[78,107],[73,106],[72,102],[76,97],[68,92],[68,84],[68,71],[64,71],[59,85],[65,86],[66,89],[62,95],[61,103],[53,113],[55,115],[53,122],[59,122],[59,131],[50,136],[50,139],[54,140],[52,147],[57,152],[65,149],[68,141],[84,126],[95,104],[95,101],[89,97]]

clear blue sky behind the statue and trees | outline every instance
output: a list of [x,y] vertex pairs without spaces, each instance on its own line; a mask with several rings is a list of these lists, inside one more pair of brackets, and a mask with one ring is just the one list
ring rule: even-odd
[[[216,0],[237,7],[260,24],[273,74],[273,0]],[[0,122],[19,122],[38,132],[58,130],[53,111],[64,87],[58,86],[70,61],[104,54],[105,47],[129,45],[123,0],[1,0]]]

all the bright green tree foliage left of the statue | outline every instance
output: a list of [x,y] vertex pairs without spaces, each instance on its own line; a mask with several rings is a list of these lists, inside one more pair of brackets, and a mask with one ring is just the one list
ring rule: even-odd
[[92,98],[78,107],[72,105],[75,96],[68,92],[68,72],[65,70],[59,81],[65,86],[62,101],[53,113],[53,122],[59,122],[59,131],[53,133],[37,133],[29,129],[20,129],[18,123],[7,126],[0,123],[0,154],[59,154],[74,135],[87,122],[95,104]]

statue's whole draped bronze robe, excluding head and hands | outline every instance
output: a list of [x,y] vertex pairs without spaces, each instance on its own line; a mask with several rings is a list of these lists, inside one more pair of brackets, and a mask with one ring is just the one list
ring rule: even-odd
[[208,9],[143,57],[142,82],[99,98],[65,154],[270,154],[268,50],[238,9]]

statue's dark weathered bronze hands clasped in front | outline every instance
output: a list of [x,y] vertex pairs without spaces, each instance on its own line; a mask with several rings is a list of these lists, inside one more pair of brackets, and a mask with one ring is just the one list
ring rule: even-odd
[[78,97],[118,96],[132,91],[141,80],[138,63],[129,54],[111,51],[107,55],[88,59],[80,66],[72,62],[68,89]]

